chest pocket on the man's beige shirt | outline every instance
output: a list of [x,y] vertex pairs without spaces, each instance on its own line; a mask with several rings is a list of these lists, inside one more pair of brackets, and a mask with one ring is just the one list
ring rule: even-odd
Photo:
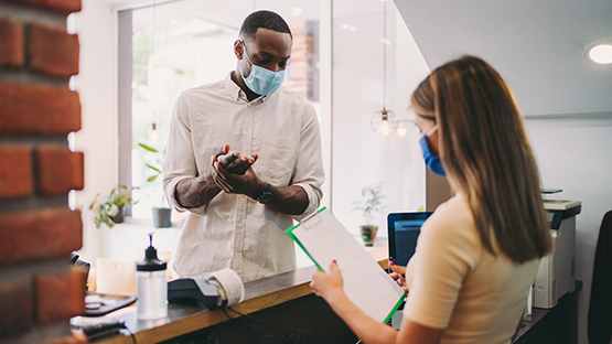
[[264,163],[260,165],[261,171],[258,172],[258,175],[270,184],[287,186],[291,181],[297,158],[298,143],[296,140],[265,136],[258,159]]

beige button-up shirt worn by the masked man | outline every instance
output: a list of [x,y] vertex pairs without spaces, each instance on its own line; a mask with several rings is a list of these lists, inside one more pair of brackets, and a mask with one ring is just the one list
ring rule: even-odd
[[[299,185],[309,205],[300,216],[276,212],[245,195],[223,191],[208,204],[184,208],[174,197],[176,184],[208,174],[211,157],[229,143],[230,151],[258,153],[253,169],[275,185]],[[232,80],[181,94],[170,127],[163,163],[167,197],[178,211],[189,211],[176,247],[174,269],[182,277],[232,268],[249,281],[296,268],[293,241],[284,234],[293,218],[316,211],[324,181],[319,121],[312,104],[280,87],[248,101]]]

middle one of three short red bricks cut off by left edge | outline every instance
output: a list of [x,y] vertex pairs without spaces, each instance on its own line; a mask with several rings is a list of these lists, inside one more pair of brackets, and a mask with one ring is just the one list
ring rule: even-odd
[[33,193],[32,150],[28,146],[0,146],[0,198]]

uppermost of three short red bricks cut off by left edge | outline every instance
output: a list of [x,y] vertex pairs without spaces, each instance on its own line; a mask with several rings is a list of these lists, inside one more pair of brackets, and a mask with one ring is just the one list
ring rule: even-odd
[[0,66],[19,67],[23,64],[23,25],[0,18]]

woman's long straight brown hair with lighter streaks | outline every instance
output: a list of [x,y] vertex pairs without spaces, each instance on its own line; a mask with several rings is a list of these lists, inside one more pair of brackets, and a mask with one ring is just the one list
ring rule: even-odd
[[552,250],[534,154],[516,101],[484,61],[464,56],[433,71],[411,107],[436,120],[440,158],[464,193],[484,247],[515,262]]

